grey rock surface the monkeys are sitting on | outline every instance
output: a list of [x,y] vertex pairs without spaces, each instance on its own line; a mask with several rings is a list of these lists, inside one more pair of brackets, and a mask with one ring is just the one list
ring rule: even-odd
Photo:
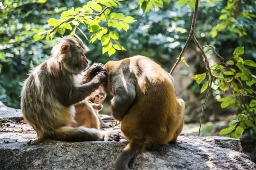
[[[125,140],[31,143],[36,133],[24,123],[20,110],[6,114],[0,111],[0,169],[113,169],[116,156],[127,145]],[[110,117],[104,119],[116,125],[111,129],[119,128]],[[130,168],[255,170],[256,164],[242,153],[240,140],[180,135],[175,144],[139,154]]]

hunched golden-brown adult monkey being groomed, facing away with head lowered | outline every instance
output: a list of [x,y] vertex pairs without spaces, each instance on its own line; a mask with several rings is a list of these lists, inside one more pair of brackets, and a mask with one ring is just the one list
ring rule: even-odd
[[121,122],[128,145],[118,156],[116,169],[128,169],[134,156],[175,142],[184,124],[185,103],[177,99],[170,74],[144,56],[134,56],[104,65],[108,72],[106,92],[112,114]]

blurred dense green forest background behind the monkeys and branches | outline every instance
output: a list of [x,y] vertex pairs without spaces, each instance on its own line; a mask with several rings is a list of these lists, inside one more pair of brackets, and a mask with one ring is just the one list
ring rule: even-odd
[[[145,55],[161,64],[168,72],[174,65],[190,30],[193,9],[186,3],[178,6],[182,0],[172,0],[163,8],[154,6],[150,12],[143,13],[137,0],[123,3],[115,12],[132,16],[136,19],[130,24],[128,31],[120,31],[118,42],[126,51],[117,51],[109,57],[102,55],[100,41],[89,43],[84,35],[76,34],[90,48],[88,59],[90,64],[106,63],[109,60],[119,60],[133,55]],[[184,0],[183,0],[184,1]],[[191,0],[185,0],[190,2]],[[193,0],[192,0],[193,1]],[[227,9],[228,2],[236,1],[236,6]],[[53,40],[41,39],[33,41],[33,36],[40,29],[49,29],[49,18],[60,17],[63,11],[86,4],[87,0],[4,0],[0,2],[0,101],[6,106],[20,108],[20,90],[28,71],[50,57],[52,46],[60,39],[56,33]],[[228,60],[233,56],[236,47],[244,47],[244,60],[256,59],[256,22],[254,0],[200,0],[195,35],[201,45],[213,45],[218,53]],[[232,11],[225,14],[223,10]],[[232,17],[230,17],[230,15]],[[225,23],[224,25],[221,23]],[[221,26],[220,26],[221,25]],[[80,27],[85,30],[86,27]],[[64,35],[69,35],[66,30]],[[90,37],[88,31],[84,31]],[[218,62],[212,49],[206,50],[211,62]],[[184,130],[196,134],[200,120],[202,103],[206,96],[200,94],[200,86],[192,79],[196,74],[206,72],[203,57],[194,43],[190,43],[184,53],[187,67],[180,63],[174,71],[176,93],[186,102],[186,120]],[[255,75],[255,69],[251,69]],[[255,91],[255,84],[252,86]],[[164,94],[163,94],[164,95]],[[216,99],[227,97],[220,90],[210,93],[205,106],[201,135],[218,135],[219,131],[228,127],[228,122],[236,113],[229,107],[222,109]],[[110,98],[104,103],[102,113],[110,114],[108,107]],[[254,126],[255,127],[255,126]],[[254,147],[255,131],[245,130],[241,136],[244,139],[244,150],[251,152]]]

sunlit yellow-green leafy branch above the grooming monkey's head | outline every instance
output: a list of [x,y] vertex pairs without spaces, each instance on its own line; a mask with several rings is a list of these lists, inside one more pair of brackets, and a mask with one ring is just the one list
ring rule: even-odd
[[[154,0],[156,1],[156,0]],[[161,1],[162,2],[162,1]],[[122,13],[111,12],[112,8],[122,6],[116,0],[96,0],[88,1],[86,5],[78,8],[72,7],[68,11],[62,12],[60,19],[50,18],[48,26],[52,27],[48,30],[34,30],[36,33],[33,37],[34,41],[43,39],[53,39],[54,35],[58,32],[64,35],[66,29],[70,30],[69,35],[76,35],[78,29],[86,39],[84,31],[92,33],[90,36],[90,43],[94,43],[97,39],[102,44],[102,54],[108,52],[111,56],[116,53],[116,50],[125,50],[118,43],[119,35],[116,31],[128,31],[129,24],[135,22],[132,16],[125,16]],[[84,25],[84,31],[79,27]],[[86,29],[88,28],[88,29]],[[114,31],[117,29],[116,31]]]

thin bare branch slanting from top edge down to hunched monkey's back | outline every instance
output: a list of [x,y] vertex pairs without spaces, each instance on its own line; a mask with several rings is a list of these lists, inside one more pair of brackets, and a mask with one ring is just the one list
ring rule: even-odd
[[176,66],[179,64],[182,55],[184,53],[184,51],[186,50],[186,48],[188,47],[188,43],[190,42],[192,36],[194,35],[194,30],[195,30],[195,25],[196,25],[196,17],[197,17],[197,12],[198,12],[198,1],[196,0],[195,2],[195,10],[194,10],[194,14],[193,14],[193,18],[192,18],[192,23],[191,23],[191,27],[190,27],[190,32],[189,32],[189,36],[188,39],[184,45],[184,47],[182,48],[182,51],[180,52],[180,55],[178,57],[178,60],[176,61],[176,63],[174,64],[174,66],[172,67],[172,70],[170,71],[170,74],[172,74],[174,72],[174,69],[176,68]]

